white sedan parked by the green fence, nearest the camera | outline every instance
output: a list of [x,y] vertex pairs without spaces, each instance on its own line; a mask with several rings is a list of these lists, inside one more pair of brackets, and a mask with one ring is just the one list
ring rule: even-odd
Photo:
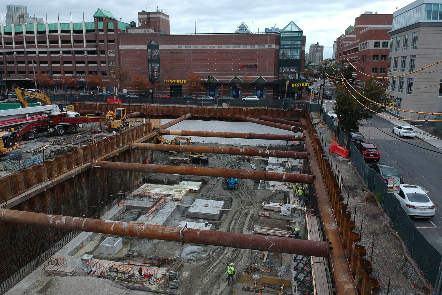
[[434,217],[434,203],[421,187],[412,184],[399,184],[399,194],[394,193],[394,195],[410,217]]

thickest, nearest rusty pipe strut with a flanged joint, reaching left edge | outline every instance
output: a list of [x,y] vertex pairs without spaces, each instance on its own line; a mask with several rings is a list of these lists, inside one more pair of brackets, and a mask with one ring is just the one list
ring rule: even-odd
[[278,253],[327,257],[329,245],[323,241],[267,237],[255,234],[230,233],[217,230],[197,230],[185,227],[157,226],[27,211],[0,209],[0,220],[34,226],[81,230],[118,236],[214,245]]

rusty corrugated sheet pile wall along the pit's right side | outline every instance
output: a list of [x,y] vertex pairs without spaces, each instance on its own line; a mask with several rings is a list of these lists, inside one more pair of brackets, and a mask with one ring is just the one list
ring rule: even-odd
[[[372,264],[370,260],[363,258],[366,255],[365,247],[357,244],[360,240],[360,235],[358,232],[353,231],[355,225],[351,218],[351,212],[347,211],[347,204],[343,203],[343,195],[341,195],[330,163],[325,159],[324,149],[320,144],[319,138],[315,135],[315,130],[312,128],[309,114],[306,114],[306,124],[313,149],[315,150],[316,159],[323,174],[331,207],[333,208],[333,213],[339,226],[339,233],[341,234],[344,248],[347,251],[347,259],[350,262],[351,272],[358,294],[370,295],[372,291],[380,290],[379,281],[370,276]],[[339,280],[339,278],[335,278],[335,280]]]

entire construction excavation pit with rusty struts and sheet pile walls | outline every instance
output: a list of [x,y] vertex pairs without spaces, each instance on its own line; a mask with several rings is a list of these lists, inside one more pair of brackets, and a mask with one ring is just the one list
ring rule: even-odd
[[[319,166],[311,127],[299,123],[306,115],[296,111],[298,122],[241,115],[229,122],[191,114],[152,118],[81,153],[74,150],[57,172],[49,168],[59,165],[57,159],[43,163],[50,184],[10,192],[0,209],[3,237],[12,242],[6,230],[27,232],[23,245],[6,250],[16,255],[2,259],[0,294],[325,295],[338,294],[340,284],[353,286],[342,294],[378,289],[376,279],[357,284],[343,266],[333,208],[320,199],[328,197],[323,177],[329,176],[313,170]],[[38,210],[32,199],[41,203]],[[353,234],[349,227],[345,237]],[[19,254],[29,258],[20,261]],[[340,256],[332,272],[331,258]],[[11,275],[20,269],[21,276]],[[357,276],[369,278],[359,270]]]

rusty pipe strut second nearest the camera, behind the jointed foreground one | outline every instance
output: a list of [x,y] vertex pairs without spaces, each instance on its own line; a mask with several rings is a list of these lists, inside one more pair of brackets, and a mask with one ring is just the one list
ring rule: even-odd
[[268,180],[281,182],[297,182],[312,184],[313,176],[308,174],[295,174],[288,172],[263,172],[249,170],[233,170],[219,168],[203,168],[191,166],[169,166],[153,164],[122,163],[110,161],[92,161],[92,165],[105,170],[136,171],[145,173],[164,173],[179,175],[198,175],[210,177],[229,177],[240,179]]

